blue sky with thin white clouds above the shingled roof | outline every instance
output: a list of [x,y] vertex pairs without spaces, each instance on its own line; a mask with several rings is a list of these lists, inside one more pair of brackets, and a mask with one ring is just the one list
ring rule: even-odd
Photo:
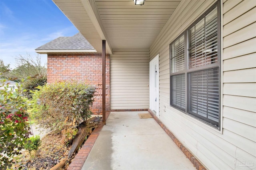
[[[15,57],[36,56],[37,47],[78,33],[51,0],[0,0],[0,59],[15,68]],[[41,55],[46,63],[46,55]]]

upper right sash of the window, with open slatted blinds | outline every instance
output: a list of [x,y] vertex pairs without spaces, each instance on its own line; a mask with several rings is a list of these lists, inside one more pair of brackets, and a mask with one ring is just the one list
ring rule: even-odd
[[189,68],[217,63],[217,6],[188,29]]

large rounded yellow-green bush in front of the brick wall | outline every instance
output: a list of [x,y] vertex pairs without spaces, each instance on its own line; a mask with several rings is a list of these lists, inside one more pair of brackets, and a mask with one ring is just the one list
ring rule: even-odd
[[[78,125],[91,115],[95,88],[82,82],[55,82],[33,93],[33,111],[40,127],[61,130],[66,123]],[[66,120],[67,118],[67,120]],[[65,123],[66,122],[66,123]]]

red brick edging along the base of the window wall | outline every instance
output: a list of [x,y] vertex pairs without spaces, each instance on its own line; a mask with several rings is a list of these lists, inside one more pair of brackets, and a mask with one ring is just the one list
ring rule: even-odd
[[152,117],[156,120],[156,122],[164,129],[164,131],[167,133],[167,135],[174,141],[174,143],[177,145],[177,147],[180,148],[180,150],[186,155],[186,157],[192,162],[192,164],[196,167],[197,170],[206,170],[204,166],[193,156],[193,154],[180,143],[180,141],[172,134],[172,132],[156,117],[156,115],[148,109],[148,112]]

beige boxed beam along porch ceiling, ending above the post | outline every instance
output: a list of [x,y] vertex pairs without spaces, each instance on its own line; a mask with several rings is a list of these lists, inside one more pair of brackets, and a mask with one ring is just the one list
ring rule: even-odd
[[[112,54],[112,48],[111,48],[111,45],[108,43],[109,42],[108,37],[104,29],[103,23],[101,21],[100,14],[98,13],[98,9],[97,9],[97,14],[94,14],[94,10],[92,9],[92,6],[94,6],[94,8],[97,8],[95,2],[93,1],[92,4],[90,4],[89,0],[81,0],[81,2],[84,6],[84,9],[87,12],[88,17],[90,18],[96,31],[98,32],[100,38],[102,40],[106,40],[106,50],[108,51],[108,53]],[[95,15],[98,15],[98,18],[100,18],[100,20],[98,20],[98,18]]]

